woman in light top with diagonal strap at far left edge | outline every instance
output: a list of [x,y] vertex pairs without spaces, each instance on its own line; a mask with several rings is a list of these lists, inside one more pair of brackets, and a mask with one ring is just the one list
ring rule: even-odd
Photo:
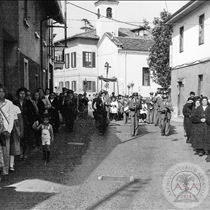
[[10,161],[10,136],[14,125],[13,103],[6,99],[7,90],[0,84],[0,167],[2,179],[7,179]]

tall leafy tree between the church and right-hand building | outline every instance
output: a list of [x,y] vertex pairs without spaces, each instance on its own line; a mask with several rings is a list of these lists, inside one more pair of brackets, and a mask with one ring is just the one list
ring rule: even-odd
[[172,26],[165,24],[171,16],[166,10],[155,17],[152,29],[154,44],[149,51],[148,65],[154,82],[168,88],[171,84],[171,68],[169,66],[169,49],[172,37]]

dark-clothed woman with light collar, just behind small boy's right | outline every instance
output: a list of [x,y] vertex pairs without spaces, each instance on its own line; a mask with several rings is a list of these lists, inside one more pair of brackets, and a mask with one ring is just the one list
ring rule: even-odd
[[53,126],[54,133],[57,133],[58,128],[60,126],[60,118],[59,118],[60,104],[54,92],[50,93],[49,101],[51,104],[51,107],[48,109],[49,115],[51,117],[50,124]]

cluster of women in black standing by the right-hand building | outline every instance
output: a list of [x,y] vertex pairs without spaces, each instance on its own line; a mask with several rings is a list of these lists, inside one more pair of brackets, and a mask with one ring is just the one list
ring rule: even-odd
[[195,96],[190,92],[183,107],[184,130],[187,137],[186,143],[192,145],[195,155],[207,155],[206,161],[210,162],[210,105],[205,96]]

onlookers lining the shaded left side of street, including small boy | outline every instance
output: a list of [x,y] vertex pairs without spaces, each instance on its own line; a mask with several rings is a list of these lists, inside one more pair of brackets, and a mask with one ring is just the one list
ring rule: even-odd
[[[15,159],[25,161],[30,151],[42,145],[43,160],[50,160],[50,145],[59,132],[60,122],[72,132],[79,113],[87,117],[86,94],[75,95],[63,88],[58,96],[50,89],[38,88],[35,93],[25,87],[16,95],[0,84],[0,177],[14,172]],[[16,158],[15,158],[16,157]]]

